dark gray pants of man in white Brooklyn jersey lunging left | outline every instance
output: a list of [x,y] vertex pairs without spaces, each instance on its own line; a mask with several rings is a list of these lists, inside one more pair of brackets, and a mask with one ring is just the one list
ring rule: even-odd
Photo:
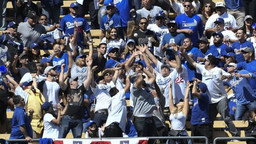
[[232,136],[238,136],[237,129],[235,127],[235,124],[231,120],[229,116],[229,106],[228,106],[228,98],[222,98],[217,103],[212,103],[209,105],[209,116],[211,120],[211,128],[213,128],[213,122],[216,119],[216,116],[218,113],[220,113],[224,119],[224,122],[229,127],[229,132],[232,134]]

